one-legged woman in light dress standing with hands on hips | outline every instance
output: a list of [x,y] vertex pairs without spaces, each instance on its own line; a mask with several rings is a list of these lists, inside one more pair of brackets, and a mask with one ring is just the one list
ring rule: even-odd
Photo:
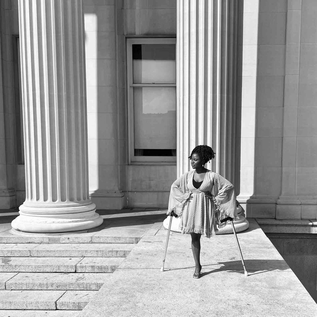
[[192,171],[184,173],[171,186],[168,212],[181,216],[179,229],[191,234],[191,249],[196,269],[193,278],[200,278],[200,237],[210,238],[226,223],[225,217],[237,215],[234,186],[204,165],[215,157],[210,146],[196,146],[189,157]]

